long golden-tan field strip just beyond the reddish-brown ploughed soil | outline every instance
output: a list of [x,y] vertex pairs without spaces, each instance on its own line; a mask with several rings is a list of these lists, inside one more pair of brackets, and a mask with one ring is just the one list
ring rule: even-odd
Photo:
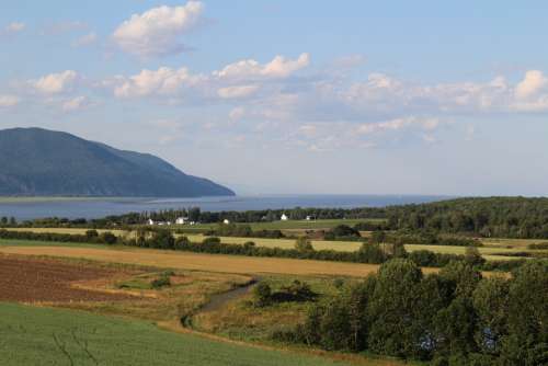
[[[324,262],[277,258],[198,254],[152,249],[90,249],[61,247],[2,247],[0,253],[81,258],[93,261],[140,264],[155,267],[235,274],[339,275],[363,277],[378,270],[375,264]],[[437,272],[423,268],[425,273]]]

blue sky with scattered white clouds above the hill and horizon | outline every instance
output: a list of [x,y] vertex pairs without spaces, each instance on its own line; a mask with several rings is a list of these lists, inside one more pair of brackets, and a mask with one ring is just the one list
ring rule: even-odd
[[0,4],[0,128],[240,194],[548,194],[546,1]]

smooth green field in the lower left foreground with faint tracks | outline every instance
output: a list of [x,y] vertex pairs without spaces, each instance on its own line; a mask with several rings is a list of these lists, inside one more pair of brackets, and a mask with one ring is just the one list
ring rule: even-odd
[[0,304],[2,366],[346,365],[160,330],[142,321]]

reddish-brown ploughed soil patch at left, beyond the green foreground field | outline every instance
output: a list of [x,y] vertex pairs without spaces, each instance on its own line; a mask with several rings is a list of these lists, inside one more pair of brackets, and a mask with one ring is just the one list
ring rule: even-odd
[[82,287],[87,283],[91,285],[102,278],[113,278],[119,274],[118,271],[62,263],[50,259],[0,255],[0,301],[67,302],[135,299],[134,296]]

